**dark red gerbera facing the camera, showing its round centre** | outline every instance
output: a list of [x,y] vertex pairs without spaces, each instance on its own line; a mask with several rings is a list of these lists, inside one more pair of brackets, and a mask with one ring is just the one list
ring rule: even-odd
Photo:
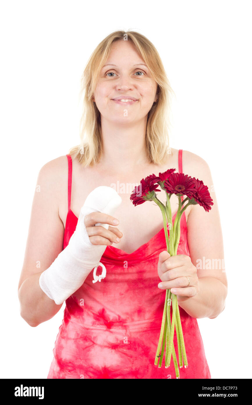
[[195,179],[184,173],[173,173],[165,180],[164,187],[169,194],[186,195],[189,198],[195,197]]

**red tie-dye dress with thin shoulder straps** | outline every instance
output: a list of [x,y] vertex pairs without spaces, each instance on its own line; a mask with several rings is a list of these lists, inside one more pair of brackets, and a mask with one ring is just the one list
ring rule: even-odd
[[[78,221],[70,209],[72,159],[66,156],[69,171],[64,248]],[[174,219],[175,214],[173,222]],[[185,213],[180,224],[177,254],[190,256]],[[130,254],[114,246],[106,247],[100,260],[106,267],[106,277],[93,283],[91,271],[83,285],[66,300],[47,378],[176,378],[173,360],[168,369],[164,360],[161,368],[154,364],[165,300],[165,290],[157,287],[157,263],[163,250],[163,228]],[[188,360],[188,368],[179,369],[180,378],[211,378],[197,319],[181,307],[179,310]],[[174,347],[178,360],[176,331]]]

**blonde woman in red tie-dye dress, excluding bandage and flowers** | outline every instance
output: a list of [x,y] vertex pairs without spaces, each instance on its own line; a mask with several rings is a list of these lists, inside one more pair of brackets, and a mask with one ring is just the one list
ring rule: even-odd
[[[68,245],[89,193],[116,185],[122,203],[108,229],[94,226],[108,221],[104,213],[85,217],[92,245],[106,245],[101,262],[107,275],[93,283],[89,273],[66,299],[47,378],[176,378],[173,362],[168,369],[154,365],[169,288],[176,288],[188,360],[180,378],[211,378],[197,318],[213,319],[223,311],[227,277],[222,269],[196,264],[203,257],[224,258],[220,218],[208,164],[194,153],[168,147],[172,90],[157,50],[137,32],[113,32],[91,55],[83,91],[80,145],[45,164],[38,175],[40,192],[34,195],[19,281],[21,316],[30,326],[61,308],[43,292],[39,279]],[[150,202],[134,207],[129,199],[140,179],[168,168],[201,179],[214,202],[208,213],[199,205],[186,209],[172,257],[159,207]],[[174,195],[171,206],[175,214]],[[177,353],[176,338],[174,346]]]

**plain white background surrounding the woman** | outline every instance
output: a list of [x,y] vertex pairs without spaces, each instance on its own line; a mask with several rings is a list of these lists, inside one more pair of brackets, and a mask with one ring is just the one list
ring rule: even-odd
[[17,296],[36,179],[79,143],[80,77],[93,49],[131,29],[155,45],[176,94],[170,146],[212,172],[229,283],[224,311],[198,319],[212,378],[251,378],[251,2],[1,4],[0,377],[47,378],[65,304],[32,328]]

